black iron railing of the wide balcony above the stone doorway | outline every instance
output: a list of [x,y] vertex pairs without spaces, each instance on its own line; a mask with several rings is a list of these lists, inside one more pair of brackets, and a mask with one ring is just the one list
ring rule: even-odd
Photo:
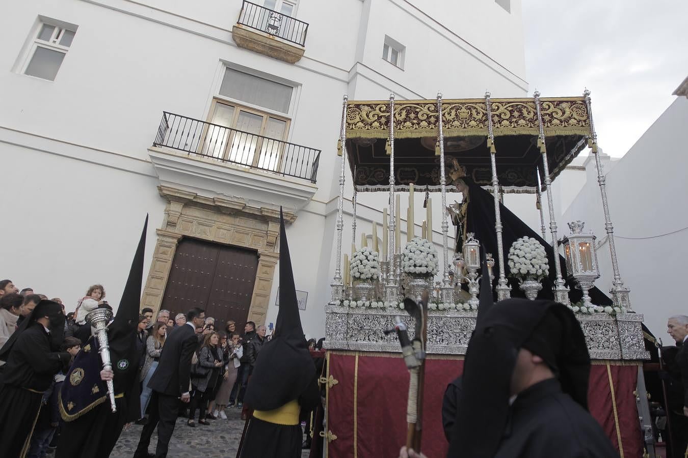
[[316,182],[320,150],[166,111],[153,146]]

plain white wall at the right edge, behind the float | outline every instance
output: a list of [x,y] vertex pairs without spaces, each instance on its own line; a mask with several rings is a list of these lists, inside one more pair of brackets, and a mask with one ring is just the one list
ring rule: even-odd
[[[683,290],[688,232],[662,236],[688,227],[687,119],[688,100],[677,98],[606,173],[621,278],[631,290],[634,310],[645,314],[649,330],[665,341],[667,317],[688,314]],[[560,221],[583,220],[603,241],[604,215],[594,161],[588,168],[592,169],[588,181]],[[608,291],[613,280],[608,243],[599,248],[598,258],[602,276],[596,286]]]

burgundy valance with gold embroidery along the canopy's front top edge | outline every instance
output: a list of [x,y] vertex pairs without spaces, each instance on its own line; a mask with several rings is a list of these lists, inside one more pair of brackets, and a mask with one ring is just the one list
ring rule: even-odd
[[[541,98],[541,117],[546,137],[590,135],[590,115],[582,97]],[[347,138],[387,138],[389,101],[348,102]],[[535,99],[491,99],[493,134],[539,135]],[[394,104],[394,137],[432,137],[438,132],[436,100],[405,100]],[[484,99],[442,100],[444,137],[487,135],[488,115]]]

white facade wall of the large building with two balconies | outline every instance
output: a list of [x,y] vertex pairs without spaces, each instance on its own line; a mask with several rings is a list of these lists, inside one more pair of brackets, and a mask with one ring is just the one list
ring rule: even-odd
[[[0,258],[0,277],[60,296],[68,310],[89,284],[103,282],[116,305],[144,214],[151,215],[146,269],[162,224],[164,201],[147,153],[162,112],[206,119],[227,62],[292,82],[297,96],[288,139],[323,151],[319,190],[288,229],[297,288],[309,291],[304,329],[323,335],[323,306],[334,275],[341,167],[334,147],[342,95],[434,98],[442,91],[463,98],[482,97],[485,89],[494,97],[526,95],[519,3],[513,0],[511,14],[488,3],[301,0],[296,16],[310,25],[305,56],[294,65],[235,45],[231,29],[239,0],[27,0],[0,6],[0,155],[3,169],[12,171],[3,174],[0,193],[19,216],[3,232],[12,244]],[[489,33],[479,23],[485,14],[499,22]],[[39,15],[78,25],[54,82],[21,74]],[[407,46],[403,71],[382,58],[385,34]],[[349,197],[350,183],[347,177]],[[439,194],[433,199],[440,242]],[[369,210],[359,233],[370,220],[382,220],[386,200],[384,194],[361,197]],[[47,226],[25,220],[27,211]],[[82,221],[92,213],[103,225]],[[421,213],[416,211],[418,233]],[[268,322],[277,315],[276,292],[277,282]]]

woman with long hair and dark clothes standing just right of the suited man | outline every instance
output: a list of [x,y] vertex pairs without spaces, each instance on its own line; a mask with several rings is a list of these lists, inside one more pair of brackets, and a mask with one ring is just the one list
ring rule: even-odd
[[201,351],[198,354],[198,363],[191,366],[191,403],[189,404],[189,421],[192,428],[196,409],[199,410],[198,422],[208,425],[206,420],[208,400],[213,395],[213,387],[219,378],[219,369],[222,367],[222,354],[217,346],[219,335],[217,332],[206,334]]

